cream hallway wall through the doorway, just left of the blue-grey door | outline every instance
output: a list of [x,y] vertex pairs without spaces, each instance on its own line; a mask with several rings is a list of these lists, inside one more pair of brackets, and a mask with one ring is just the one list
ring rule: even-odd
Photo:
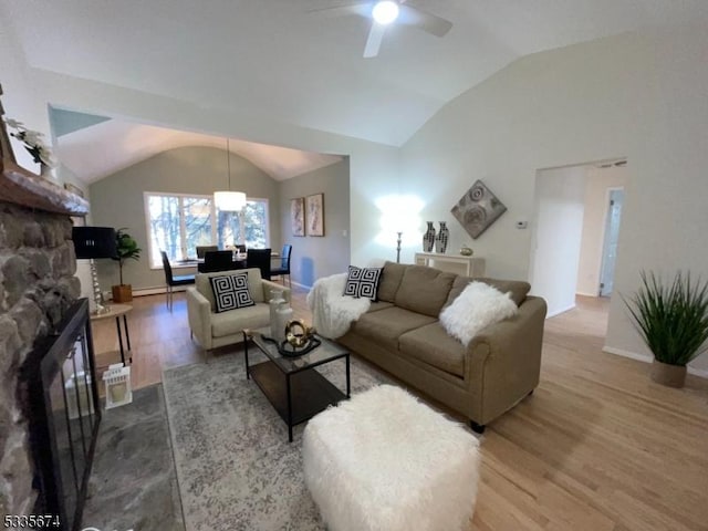
[[610,205],[610,188],[624,188],[627,167],[596,168],[587,170],[585,186],[585,216],[583,218],[583,240],[577,268],[577,293],[597,296],[600,270],[605,239],[605,223]]

